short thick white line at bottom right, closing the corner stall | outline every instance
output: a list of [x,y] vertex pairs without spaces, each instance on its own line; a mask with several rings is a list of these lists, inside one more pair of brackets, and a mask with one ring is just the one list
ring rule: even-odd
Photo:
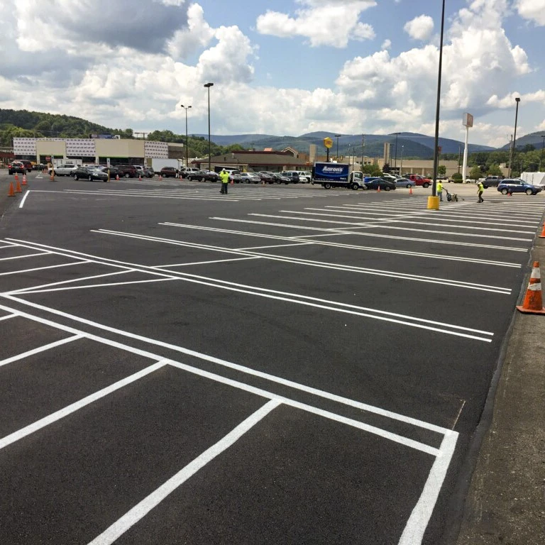
[[422,543],[424,532],[428,526],[431,513],[439,497],[439,492],[443,486],[448,466],[450,466],[458,434],[451,431],[445,434],[439,450],[441,454],[435,458],[433,466],[429,472],[424,490],[419,497],[417,505],[412,510],[411,516],[405,524],[401,539],[398,545],[415,545]]

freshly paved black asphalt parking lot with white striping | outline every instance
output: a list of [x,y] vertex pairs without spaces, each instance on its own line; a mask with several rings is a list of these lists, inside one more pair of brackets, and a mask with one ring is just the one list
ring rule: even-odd
[[4,543],[446,542],[543,195],[27,190],[0,221]]

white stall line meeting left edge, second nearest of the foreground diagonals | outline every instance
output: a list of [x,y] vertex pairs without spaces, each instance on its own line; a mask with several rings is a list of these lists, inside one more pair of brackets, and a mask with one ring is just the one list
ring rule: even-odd
[[167,365],[167,360],[160,360],[158,361],[158,363],[150,365],[149,367],[138,371],[138,373],[134,373],[134,375],[130,375],[126,378],[123,378],[122,380],[119,380],[118,382],[114,382],[114,384],[111,384],[103,388],[102,390],[99,390],[98,392],[94,392],[94,394],[88,395],[82,400],[79,400],[75,403],[68,405],[67,407],[64,407],[63,409],[53,412],[47,417],[37,420],[36,422],[33,422],[33,424],[29,424],[28,426],[25,426],[18,431],[14,431],[13,434],[6,435],[2,439],[0,439],[0,450],[8,445],[11,445],[12,443],[15,443],[16,441],[19,441],[20,439],[23,439],[23,437],[33,434],[35,431],[38,431],[38,429],[45,428],[45,426],[49,426],[50,424],[53,424],[53,422],[57,422],[57,420],[67,417],[69,414],[72,414],[73,412],[82,409],[82,407],[85,407],[88,404],[100,400],[102,397],[105,397],[106,395],[109,395],[112,392],[115,392],[116,390],[119,390],[120,388],[131,384],[132,382],[135,382],[136,380],[143,378],[146,375],[149,375],[150,373],[153,373],[153,371],[156,371],[164,367],[165,365]]

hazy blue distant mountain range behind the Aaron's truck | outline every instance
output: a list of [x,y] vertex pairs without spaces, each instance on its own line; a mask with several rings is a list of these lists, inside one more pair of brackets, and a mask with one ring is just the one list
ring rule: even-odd
[[[194,136],[203,136],[208,138],[208,135],[199,134]],[[240,144],[255,148],[255,150],[263,150],[264,148],[273,148],[282,150],[288,146],[307,152],[311,144],[316,144],[319,153],[324,151],[324,138],[329,136],[333,138],[334,144],[330,153],[337,154],[337,138],[335,133],[327,133],[319,131],[314,133],[302,134],[301,136],[274,136],[270,134],[237,134],[237,135],[211,135],[211,140],[218,145]],[[382,155],[384,143],[390,142],[390,151],[392,158],[397,155],[401,158],[422,158],[431,159],[434,155],[434,138],[419,133],[400,133],[397,135],[397,153],[395,150],[395,134],[365,134],[365,155],[376,157]],[[518,140],[517,140],[518,142]],[[439,146],[441,153],[458,153],[458,150],[463,151],[463,142],[452,140],[451,138],[439,138]],[[491,151],[495,148],[490,148],[488,145],[470,144],[470,153],[475,151]],[[343,134],[338,138],[338,155],[361,155],[362,154],[362,135]]]

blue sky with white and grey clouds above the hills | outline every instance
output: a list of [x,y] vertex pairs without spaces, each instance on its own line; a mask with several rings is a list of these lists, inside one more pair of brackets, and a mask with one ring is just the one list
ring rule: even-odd
[[[545,130],[545,0],[447,0],[441,136]],[[0,108],[136,131],[433,134],[441,0],[2,0]],[[274,6],[274,7],[271,7]]]

